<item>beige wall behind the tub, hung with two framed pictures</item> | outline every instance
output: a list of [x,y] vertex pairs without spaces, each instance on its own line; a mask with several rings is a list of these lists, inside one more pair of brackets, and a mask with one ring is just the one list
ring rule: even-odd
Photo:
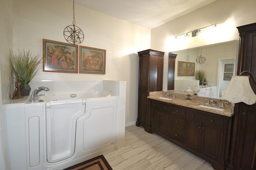
[[[13,48],[42,55],[42,39],[66,42],[73,4],[66,0],[14,0]],[[127,82],[126,123],[137,119],[138,51],[150,48],[150,29],[75,5],[83,46],[106,49],[106,74],[40,72],[37,80],[122,80]],[[42,70],[42,68],[41,68]]]

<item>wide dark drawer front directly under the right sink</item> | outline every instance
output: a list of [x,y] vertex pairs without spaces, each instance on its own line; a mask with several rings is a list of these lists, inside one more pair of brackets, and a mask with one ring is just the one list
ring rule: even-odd
[[222,125],[223,120],[221,115],[214,115],[214,113],[200,112],[196,110],[188,110],[186,117],[189,119],[194,119],[196,121],[201,121],[202,123],[208,123],[212,125]]

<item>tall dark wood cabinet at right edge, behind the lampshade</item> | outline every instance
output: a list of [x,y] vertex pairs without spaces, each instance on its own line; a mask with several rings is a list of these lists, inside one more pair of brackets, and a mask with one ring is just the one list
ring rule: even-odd
[[[237,74],[250,71],[256,76],[256,23],[237,27],[240,35]],[[256,84],[249,74],[250,85]],[[256,104],[235,104],[230,160],[227,170],[256,170]]]

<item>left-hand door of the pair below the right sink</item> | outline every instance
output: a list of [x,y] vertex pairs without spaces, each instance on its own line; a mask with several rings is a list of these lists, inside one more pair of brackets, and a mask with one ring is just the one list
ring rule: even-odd
[[202,123],[193,119],[186,119],[185,145],[200,152]]

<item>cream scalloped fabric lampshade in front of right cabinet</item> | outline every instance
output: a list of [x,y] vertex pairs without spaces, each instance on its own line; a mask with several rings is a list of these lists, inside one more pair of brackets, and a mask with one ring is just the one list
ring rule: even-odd
[[232,76],[228,87],[222,91],[222,100],[228,100],[231,103],[244,102],[252,105],[256,102],[254,94],[249,82],[248,76]]

